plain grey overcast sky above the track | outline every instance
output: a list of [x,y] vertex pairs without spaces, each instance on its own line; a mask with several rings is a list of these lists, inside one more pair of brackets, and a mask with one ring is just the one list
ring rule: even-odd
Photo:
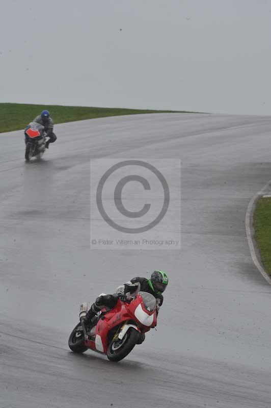
[[271,114],[271,0],[0,5],[1,102]]

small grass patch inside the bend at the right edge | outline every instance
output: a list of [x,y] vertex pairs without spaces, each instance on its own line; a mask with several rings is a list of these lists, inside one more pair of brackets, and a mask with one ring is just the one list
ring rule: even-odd
[[254,212],[255,239],[266,272],[271,275],[271,198],[260,198]]

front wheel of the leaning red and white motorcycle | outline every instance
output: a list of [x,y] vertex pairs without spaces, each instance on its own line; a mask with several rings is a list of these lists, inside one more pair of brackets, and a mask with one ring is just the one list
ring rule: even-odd
[[107,359],[110,361],[120,361],[132,351],[139,340],[140,333],[130,327],[122,340],[112,340],[107,350]]

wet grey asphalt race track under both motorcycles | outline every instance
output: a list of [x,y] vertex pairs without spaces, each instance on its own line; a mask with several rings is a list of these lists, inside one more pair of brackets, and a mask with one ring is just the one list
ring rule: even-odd
[[[244,221],[271,179],[271,117],[139,115],[56,132],[29,164],[21,132],[0,135],[0,407],[270,407],[271,287]],[[90,251],[90,156],[182,159],[181,251]],[[157,332],[119,364],[69,351],[80,301],[155,268],[170,275]]]

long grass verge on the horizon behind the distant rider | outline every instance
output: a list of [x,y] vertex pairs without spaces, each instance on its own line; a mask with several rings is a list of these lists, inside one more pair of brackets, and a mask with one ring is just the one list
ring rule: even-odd
[[82,106],[0,104],[0,133],[24,129],[43,109],[48,109],[55,123],[73,122],[75,120],[94,119],[105,116],[136,115],[140,113],[185,112]]

